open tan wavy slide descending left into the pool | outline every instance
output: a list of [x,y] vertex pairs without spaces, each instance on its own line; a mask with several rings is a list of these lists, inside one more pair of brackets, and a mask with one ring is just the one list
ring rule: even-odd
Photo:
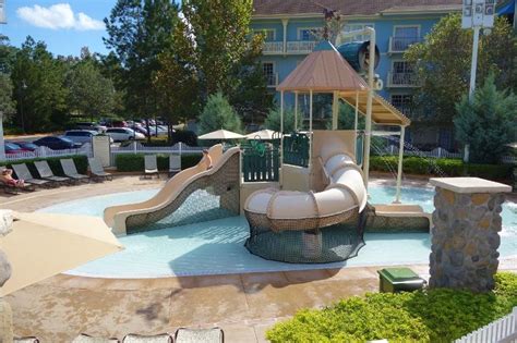
[[187,186],[200,177],[204,177],[217,172],[230,157],[240,151],[239,148],[230,148],[223,154],[223,146],[215,145],[208,149],[208,155],[212,159],[213,168],[207,169],[204,160],[201,160],[196,166],[182,170],[170,179],[164,187],[151,199],[120,206],[111,206],[104,211],[104,221],[111,228],[117,235],[127,233],[127,219],[130,216],[137,216],[143,213],[153,213],[164,209],[172,203]]

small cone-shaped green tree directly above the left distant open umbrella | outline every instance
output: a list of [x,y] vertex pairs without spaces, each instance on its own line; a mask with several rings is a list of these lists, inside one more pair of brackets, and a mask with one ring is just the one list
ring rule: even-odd
[[220,128],[242,132],[241,119],[220,91],[208,97],[199,120],[201,134]]

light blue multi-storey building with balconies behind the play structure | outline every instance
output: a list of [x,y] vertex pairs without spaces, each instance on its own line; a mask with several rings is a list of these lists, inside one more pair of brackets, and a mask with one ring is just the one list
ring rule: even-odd
[[[404,52],[421,41],[441,17],[460,12],[461,0],[254,0],[252,29],[266,37],[261,61],[272,91],[315,47],[314,32],[324,26],[324,10],[337,11],[345,19],[345,32],[375,28],[381,52],[376,73],[384,83],[380,94],[411,117],[409,105],[418,84]],[[293,97],[286,102],[292,103]],[[418,140],[452,146],[450,128],[419,132],[418,136]]]

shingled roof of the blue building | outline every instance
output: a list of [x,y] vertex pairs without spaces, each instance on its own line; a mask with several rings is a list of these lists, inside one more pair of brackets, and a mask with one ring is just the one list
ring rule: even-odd
[[393,12],[454,11],[461,9],[461,0],[254,0],[253,15],[322,14],[323,10],[339,11],[342,15],[375,15]]

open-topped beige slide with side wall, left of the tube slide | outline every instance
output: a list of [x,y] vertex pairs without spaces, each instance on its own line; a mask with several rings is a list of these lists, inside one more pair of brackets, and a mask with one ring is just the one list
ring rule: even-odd
[[[104,221],[118,235],[127,234],[130,225],[144,225],[156,222],[173,212],[184,199],[207,180],[227,173],[225,167],[231,160],[239,160],[239,148],[230,148],[223,154],[223,146],[215,145],[208,149],[213,168],[207,169],[204,160],[196,166],[182,170],[170,179],[151,199],[120,206],[111,206],[104,211]],[[233,168],[235,169],[235,168]],[[130,223],[131,222],[131,223]]]

